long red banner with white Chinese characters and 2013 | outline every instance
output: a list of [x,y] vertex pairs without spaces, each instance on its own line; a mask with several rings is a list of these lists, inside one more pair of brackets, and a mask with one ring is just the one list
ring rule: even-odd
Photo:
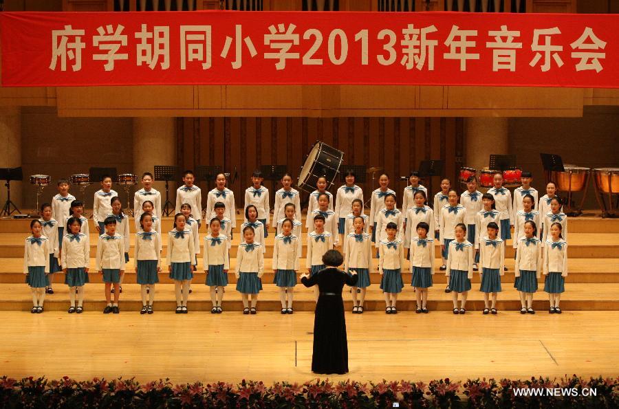
[[2,85],[619,86],[617,14],[3,12]]

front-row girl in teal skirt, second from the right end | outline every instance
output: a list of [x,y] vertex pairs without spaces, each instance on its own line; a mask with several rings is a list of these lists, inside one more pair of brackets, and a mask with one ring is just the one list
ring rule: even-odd
[[525,235],[518,240],[516,252],[516,283],[514,286],[520,291],[520,313],[534,314],[533,293],[537,291],[537,280],[540,277],[542,266],[541,241],[536,238],[537,226],[534,221],[524,224]]

